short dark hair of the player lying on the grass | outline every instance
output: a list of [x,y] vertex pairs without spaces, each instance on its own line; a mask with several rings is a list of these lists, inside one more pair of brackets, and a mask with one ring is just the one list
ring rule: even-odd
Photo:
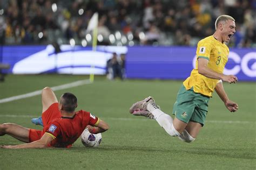
[[66,112],[73,112],[77,107],[77,97],[72,93],[64,93],[59,103],[63,105],[63,110]]

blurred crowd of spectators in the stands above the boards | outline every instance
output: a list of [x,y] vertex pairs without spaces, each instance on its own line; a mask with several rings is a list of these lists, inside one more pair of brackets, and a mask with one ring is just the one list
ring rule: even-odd
[[256,48],[255,0],[1,0],[0,43],[91,45],[95,12],[101,45],[195,46],[226,14],[237,25],[229,46]]

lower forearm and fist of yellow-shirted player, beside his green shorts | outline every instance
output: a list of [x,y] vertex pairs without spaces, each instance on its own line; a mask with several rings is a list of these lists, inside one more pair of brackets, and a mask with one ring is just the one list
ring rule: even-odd
[[229,100],[224,87],[223,87],[223,83],[222,81],[220,81],[219,83],[217,83],[216,87],[215,87],[215,91],[216,93],[219,95],[219,97],[221,98],[221,100],[224,102],[226,108],[231,111],[231,112],[235,112],[238,110],[238,104],[235,102],[232,102]]

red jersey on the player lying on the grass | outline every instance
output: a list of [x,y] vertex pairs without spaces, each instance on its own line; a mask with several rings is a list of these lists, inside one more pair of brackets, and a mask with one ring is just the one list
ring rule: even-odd
[[53,119],[44,127],[43,133],[48,133],[53,138],[50,146],[70,147],[80,137],[87,125],[95,126],[98,123],[98,117],[90,112],[79,110],[73,117]]

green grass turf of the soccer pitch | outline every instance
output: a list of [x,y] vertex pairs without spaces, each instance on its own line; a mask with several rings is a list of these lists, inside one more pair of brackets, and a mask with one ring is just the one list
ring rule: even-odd
[[[8,75],[0,83],[0,99],[83,79],[88,76]],[[0,149],[0,169],[256,169],[255,82],[224,83],[239,111],[228,112],[214,94],[206,125],[190,144],[167,135],[156,121],[129,114],[132,103],[149,95],[170,114],[180,85],[181,81],[108,81],[96,76],[92,84],[56,91],[58,98],[66,91],[74,93],[78,109],[109,123],[102,144],[86,148],[79,139],[70,149]],[[0,123],[41,129],[30,123],[41,109],[40,96],[0,103]],[[6,135],[0,137],[0,145],[21,143]]]

